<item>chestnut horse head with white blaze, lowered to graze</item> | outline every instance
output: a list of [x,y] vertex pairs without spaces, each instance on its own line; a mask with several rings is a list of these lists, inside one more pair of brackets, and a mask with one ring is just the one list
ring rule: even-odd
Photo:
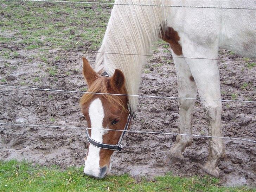
[[[115,130],[124,130],[130,124],[130,121],[127,123],[129,110],[124,75],[116,69],[111,77],[101,76],[91,68],[85,58],[83,75],[89,86],[87,92],[90,92],[85,93],[80,102],[82,113],[87,120],[87,137],[97,143],[117,146],[123,132]],[[84,158],[84,173],[95,178],[103,178],[110,172],[111,155],[114,150],[92,144],[89,143],[87,156]]]

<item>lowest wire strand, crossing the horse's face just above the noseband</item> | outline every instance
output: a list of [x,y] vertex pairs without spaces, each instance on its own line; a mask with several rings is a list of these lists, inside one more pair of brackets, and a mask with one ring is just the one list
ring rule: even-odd
[[[0,123],[0,124],[3,124],[3,125],[15,125],[15,126],[31,126],[31,127],[59,127],[59,128],[71,128],[71,129],[95,129],[95,130],[123,131],[123,130],[120,130],[120,129],[99,129],[99,128],[47,126],[47,125],[15,124],[15,123]],[[148,132],[148,131],[136,131],[136,130],[127,130],[127,132],[150,133],[150,134],[166,134],[166,135],[184,135],[184,136],[208,137],[208,138],[219,138],[219,139],[236,139],[236,140],[250,141],[250,142],[256,143],[256,141],[254,141],[254,140],[241,139],[241,138],[236,138],[236,137],[217,137],[217,136],[207,136],[207,135],[190,135],[190,134],[180,134],[180,133]]]

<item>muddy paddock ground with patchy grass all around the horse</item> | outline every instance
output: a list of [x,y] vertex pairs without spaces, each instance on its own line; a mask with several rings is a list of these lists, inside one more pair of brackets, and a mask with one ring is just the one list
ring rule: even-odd
[[[100,47],[112,5],[2,0],[0,6],[1,85],[87,90],[82,75],[81,58],[87,57],[94,65],[95,51]],[[153,55],[155,56],[149,57],[143,70],[139,95],[177,96],[175,67],[168,44],[159,40],[153,49]],[[223,100],[256,101],[255,66],[255,61],[249,58],[239,57],[229,50],[219,51],[218,67]],[[82,93],[75,92],[1,87],[0,120],[1,123],[86,127],[86,121],[79,108],[81,96]],[[222,104],[223,135],[255,140],[255,103]],[[137,118],[132,122],[132,130],[178,133],[177,100],[140,97],[137,107]],[[1,174],[4,175],[4,181],[11,185],[15,185],[12,181],[14,179],[29,183],[30,180],[23,180],[24,177],[33,177],[33,174],[37,173],[45,177],[45,182],[54,179],[55,175],[62,175],[56,176],[57,179],[65,178],[61,180],[60,185],[69,187],[63,188],[63,191],[70,190],[75,184],[84,187],[88,185],[85,184],[87,182],[91,182],[92,186],[96,185],[96,190],[108,190],[109,187],[111,191],[115,191],[116,186],[119,187],[118,190],[126,190],[124,187],[129,189],[131,185],[134,186],[134,191],[175,191],[175,188],[169,184],[167,186],[165,182],[184,184],[185,188],[180,188],[180,191],[212,191],[213,189],[205,186],[255,186],[256,182],[255,144],[247,141],[224,140],[228,157],[220,162],[222,175],[220,179],[215,179],[207,176],[201,178],[202,174],[198,171],[207,159],[208,139],[194,137],[193,145],[183,153],[184,162],[177,161],[165,165],[162,157],[174,145],[174,135],[128,133],[124,137],[123,151],[113,155],[111,176],[94,180],[83,176],[82,168],[73,167],[84,165],[83,158],[87,152],[88,141],[83,129],[1,125],[0,134],[0,158],[4,160],[1,161]],[[199,101],[196,101],[194,109],[193,134],[207,135],[207,123]],[[8,161],[10,159],[25,159],[34,165],[50,168]],[[54,165],[66,170],[62,172],[59,168],[52,168]],[[67,168],[68,166],[70,167]],[[15,171],[18,175],[13,174]],[[41,172],[44,171],[49,174],[43,176]],[[172,174],[152,179],[156,175],[170,172]],[[22,176],[23,174],[26,176]],[[36,184],[42,182],[42,178],[38,179],[31,180],[33,186],[36,187]],[[147,183],[147,179],[152,181]],[[198,187],[200,185],[203,188],[191,188],[190,184],[194,187],[197,185],[193,183],[194,180],[198,182]],[[145,185],[149,188],[143,188]],[[101,186],[102,188],[98,188]],[[1,190],[2,187],[5,187],[3,181]],[[50,188],[45,188],[47,189]],[[218,187],[215,189],[239,190]]]

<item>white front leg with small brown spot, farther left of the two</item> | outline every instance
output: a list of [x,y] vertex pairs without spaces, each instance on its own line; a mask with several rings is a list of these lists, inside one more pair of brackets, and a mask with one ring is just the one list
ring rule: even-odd
[[[176,58],[173,52],[173,60],[177,73],[178,96],[196,98],[197,87],[191,71],[184,58]],[[183,57],[183,55],[181,55]],[[179,133],[192,135],[192,117],[195,100],[179,99]],[[177,135],[176,142],[171,150],[166,153],[165,163],[169,164],[172,159],[184,160],[182,152],[192,144],[192,136]]]

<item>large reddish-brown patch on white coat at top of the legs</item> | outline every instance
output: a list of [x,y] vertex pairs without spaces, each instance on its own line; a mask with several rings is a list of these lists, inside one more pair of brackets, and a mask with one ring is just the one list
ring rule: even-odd
[[165,30],[161,30],[162,40],[170,44],[171,49],[176,55],[182,55],[182,47],[179,44],[180,37],[178,32],[172,27],[166,27]]

